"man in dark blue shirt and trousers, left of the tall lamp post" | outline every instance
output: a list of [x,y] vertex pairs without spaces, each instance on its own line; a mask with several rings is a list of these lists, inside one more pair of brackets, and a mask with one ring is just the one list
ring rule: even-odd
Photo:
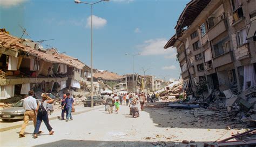
[[64,101],[64,106],[62,109],[66,108],[66,121],[73,120],[71,115],[72,108],[74,107],[74,100],[70,98],[70,93],[66,93],[66,99]]

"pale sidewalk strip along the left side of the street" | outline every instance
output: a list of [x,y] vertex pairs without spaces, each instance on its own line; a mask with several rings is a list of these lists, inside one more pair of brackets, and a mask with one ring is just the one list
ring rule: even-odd
[[[99,108],[102,108],[104,107],[103,105],[101,106],[95,106],[93,108],[91,107],[84,107],[82,105],[80,106],[74,106],[76,111],[72,113],[72,115],[77,115],[77,114],[80,114],[80,113],[85,113],[85,112],[89,112],[89,111],[92,111],[92,110],[95,110],[95,109],[99,109]],[[49,115],[49,120],[55,120],[55,119],[58,119],[58,116],[61,117],[61,109],[56,109],[51,115]],[[1,131],[6,131],[6,130],[10,130],[10,129],[15,129],[15,128],[20,128],[23,124],[23,120],[21,121],[10,121],[10,122],[3,122],[3,121],[0,121],[0,132]],[[30,121],[28,123],[28,125],[32,125],[33,122]]]

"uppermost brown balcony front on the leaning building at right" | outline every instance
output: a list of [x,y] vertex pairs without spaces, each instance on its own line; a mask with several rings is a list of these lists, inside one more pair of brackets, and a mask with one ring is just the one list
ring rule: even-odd
[[211,41],[217,36],[219,36],[221,33],[225,32],[227,30],[227,23],[226,19],[223,19],[219,21],[216,25],[214,25],[211,30],[207,32],[208,39]]

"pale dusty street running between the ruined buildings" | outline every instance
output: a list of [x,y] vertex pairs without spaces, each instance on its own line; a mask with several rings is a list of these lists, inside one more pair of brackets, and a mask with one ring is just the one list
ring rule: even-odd
[[181,143],[183,140],[195,141],[194,144],[200,146],[228,137],[235,131],[226,130],[225,124],[214,126],[209,123],[199,128],[197,125],[186,125],[180,121],[181,114],[177,113],[184,113],[182,117],[189,117],[185,111],[170,112],[168,108],[150,106],[147,105],[145,111],[140,111],[138,118],[130,116],[129,107],[123,105],[118,114],[108,114],[104,108],[99,108],[74,115],[72,121],[51,120],[55,134],[48,135],[48,130],[42,123],[43,133],[36,139],[32,138],[32,125],[26,128],[24,138],[18,138],[21,128],[3,131],[0,133],[1,146],[156,146],[174,143],[185,146],[186,144]]

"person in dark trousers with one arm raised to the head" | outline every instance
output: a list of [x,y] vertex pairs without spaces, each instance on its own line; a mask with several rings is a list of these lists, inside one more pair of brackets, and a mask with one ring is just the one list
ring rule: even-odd
[[[49,100],[48,100],[49,99]],[[52,135],[54,131],[49,123],[48,113],[46,111],[46,107],[48,104],[53,103],[53,99],[48,97],[48,95],[44,94],[42,97],[42,101],[39,101],[37,104],[37,119],[36,119],[36,127],[34,130],[34,138],[37,138],[39,133],[39,128],[41,126],[42,120],[44,121],[45,126],[47,127],[49,134]]]

